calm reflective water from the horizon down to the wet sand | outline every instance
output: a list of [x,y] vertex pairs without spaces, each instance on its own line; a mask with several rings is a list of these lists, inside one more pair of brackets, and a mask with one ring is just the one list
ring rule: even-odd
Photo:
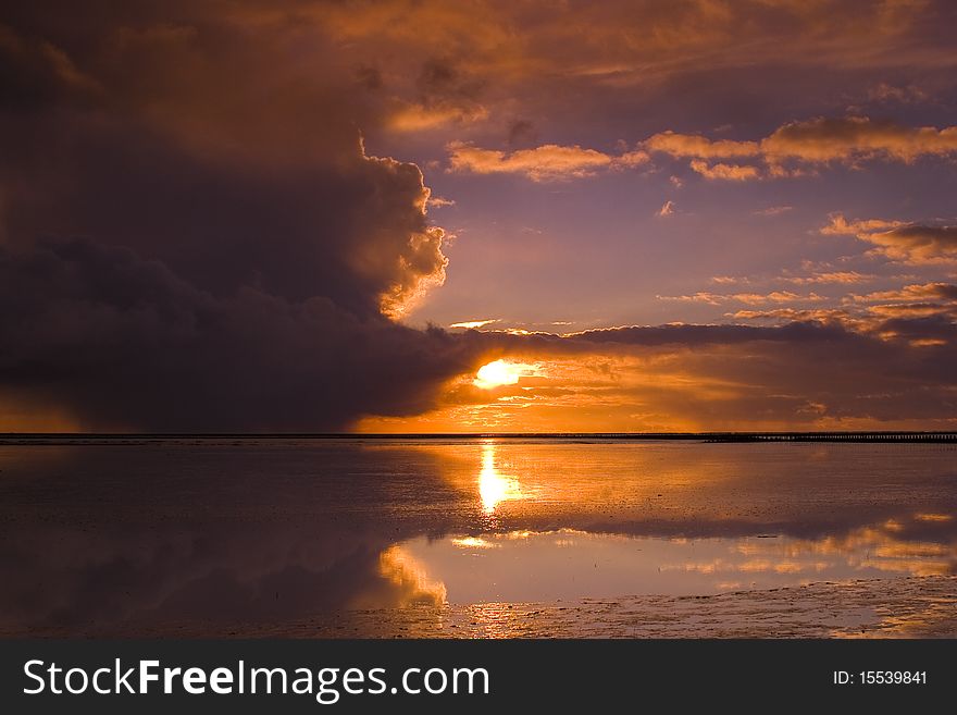
[[582,440],[0,445],[0,628],[241,634],[421,604],[953,575],[955,457]]

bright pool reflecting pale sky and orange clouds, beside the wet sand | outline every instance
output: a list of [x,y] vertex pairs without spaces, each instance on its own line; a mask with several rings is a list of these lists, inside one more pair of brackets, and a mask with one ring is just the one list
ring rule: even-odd
[[410,539],[390,547],[440,582],[449,603],[555,602],[621,595],[707,595],[816,581],[957,572],[950,521],[919,516],[845,534],[705,539],[575,529]]

